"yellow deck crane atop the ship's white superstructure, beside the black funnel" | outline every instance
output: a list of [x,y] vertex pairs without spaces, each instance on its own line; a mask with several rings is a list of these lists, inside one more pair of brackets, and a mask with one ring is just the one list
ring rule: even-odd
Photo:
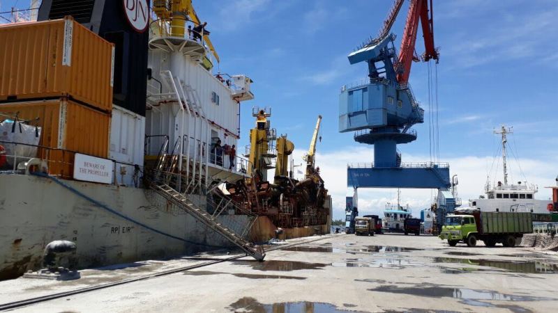
[[[159,26],[160,31],[168,31],[167,35],[172,37],[183,38],[186,34],[186,21],[190,20],[194,24],[199,25],[201,22],[199,17],[197,17],[196,11],[192,5],[192,0],[154,0],[153,1],[153,12],[160,19]],[[163,27],[162,24],[169,24],[167,27]],[[219,56],[208,34],[203,35],[204,43],[207,45],[217,62],[219,62]]]

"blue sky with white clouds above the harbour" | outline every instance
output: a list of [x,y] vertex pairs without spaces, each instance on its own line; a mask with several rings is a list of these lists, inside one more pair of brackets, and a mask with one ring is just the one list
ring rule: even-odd
[[[194,0],[208,22],[211,40],[227,74],[254,80],[255,100],[242,104],[241,145],[253,127],[252,106],[271,106],[272,124],[295,143],[297,163],[308,148],[315,120],[323,115],[317,162],[333,195],[335,218],[343,214],[347,162],[370,162],[373,150],[338,133],[340,86],[366,77],[364,63],[349,65],[347,54],[377,34],[391,0]],[[1,0],[9,10],[15,1]],[[347,4],[349,3],[349,4]],[[18,1],[27,7],[29,1]],[[402,37],[408,1],[392,32]],[[501,179],[491,164],[499,138],[492,130],[513,126],[510,143],[515,181],[540,187],[555,184],[558,146],[558,1],[435,0],[440,161],[460,177],[460,196],[481,194],[487,175]],[[416,51],[424,51],[421,32]],[[425,63],[414,63],[410,82],[427,110]],[[415,125],[418,140],[400,145],[403,161],[430,161],[428,118]],[[511,158],[515,161],[515,158]],[[492,168],[492,170],[490,170]],[[525,175],[521,175],[521,172]],[[381,211],[394,190],[359,191],[361,211]],[[548,198],[541,188],[538,198]],[[416,210],[430,205],[432,191],[403,191],[402,202]]]

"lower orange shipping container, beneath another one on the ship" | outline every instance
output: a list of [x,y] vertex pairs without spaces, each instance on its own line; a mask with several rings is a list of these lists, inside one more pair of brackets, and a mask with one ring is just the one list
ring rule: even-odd
[[[72,177],[74,153],[107,158],[110,114],[91,109],[68,99],[0,104],[0,121],[6,116],[28,120],[41,127],[39,145],[59,150],[40,149],[38,156],[49,160],[52,175]],[[65,151],[66,150],[66,151]]]

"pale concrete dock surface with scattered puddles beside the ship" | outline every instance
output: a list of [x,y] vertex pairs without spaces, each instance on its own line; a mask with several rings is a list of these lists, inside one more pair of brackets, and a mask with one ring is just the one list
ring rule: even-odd
[[[318,240],[316,240],[318,239]],[[310,242],[311,241],[311,242]],[[79,280],[0,282],[21,312],[554,312],[558,255],[532,248],[450,247],[434,236],[331,234],[283,243],[265,262],[220,252],[81,271]],[[280,246],[280,245],[278,245]],[[209,265],[208,263],[213,263]],[[181,268],[200,267],[181,271]],[[149,276],[153,273],[176,273]]]

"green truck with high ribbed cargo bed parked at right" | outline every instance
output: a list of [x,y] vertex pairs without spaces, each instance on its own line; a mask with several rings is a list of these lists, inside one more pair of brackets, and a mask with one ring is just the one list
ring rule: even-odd
[[487,247],[502,243],[513,247],[523,234],[533,232],[533,218],[529,212],[481,212],[479,210],[456,211],[446,216],[440,239],[450,246],[459,242],[476,246],[482,240]]

